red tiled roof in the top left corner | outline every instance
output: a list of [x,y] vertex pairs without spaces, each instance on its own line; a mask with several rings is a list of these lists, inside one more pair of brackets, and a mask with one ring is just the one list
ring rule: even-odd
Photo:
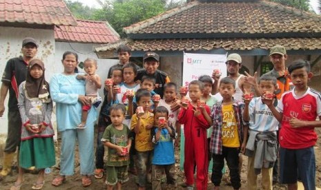
[[0,0],[0,23],[77,25],[63,0]]

